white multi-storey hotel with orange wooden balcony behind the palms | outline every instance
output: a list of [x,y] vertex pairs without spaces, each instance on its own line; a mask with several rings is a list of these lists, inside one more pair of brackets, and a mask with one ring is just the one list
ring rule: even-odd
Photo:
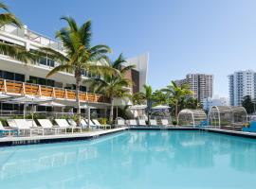
[[[5,43],[25,46],[27,50],[36,50],[39,47],[47,46],[64,53],[62,43],[31,31],[27,26],[22,29],[16,26],[2,26],[0,28],[0,40]],[[127,77],[131,77],[135,83],[131,91],[138,92],[142,89],[143,84],[147,82],[148,54],[128,60],[128,63],[137,65],[137,68],[128,73]],[[24,62],[0,55],[0,93],[9,94],[10,96],[50,97],[55,101],[64,103],[66,105],[65,109],[70,109],[75,106],[75,78],[73,74],[66,72],[59,72],[46,78],[46,74],[56,65],[58,65],[58,62],[47,59],[47,57],[26,65]],[[94,76],[84,71],[82,79],[86,77]],[[89,91],[89,87],[82,84],[80,94],[82,103],[105,109],[109,106],[109,101],[104,95],[92,94]],[[16,105],[0,104],[3,109],[17,110]],[[39,106],[38,111],[52,111],[50,108]]]

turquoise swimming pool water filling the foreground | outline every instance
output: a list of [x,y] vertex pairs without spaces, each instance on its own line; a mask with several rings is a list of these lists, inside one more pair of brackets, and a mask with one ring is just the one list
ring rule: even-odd
[[0,148],[0,188],[256,188],[256,140],[200,131],[124,131]]

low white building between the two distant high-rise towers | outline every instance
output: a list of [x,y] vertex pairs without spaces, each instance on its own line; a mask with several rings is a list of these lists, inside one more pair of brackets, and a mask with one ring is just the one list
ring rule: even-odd
[[213,95],[212,97],[204,98],[202,104],[204,110],[209,111],[213,106],[229,106],[229,98]]

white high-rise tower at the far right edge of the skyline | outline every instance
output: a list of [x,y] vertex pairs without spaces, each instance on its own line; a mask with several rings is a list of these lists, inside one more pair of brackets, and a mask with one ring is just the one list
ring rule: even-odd
[[256,73],[252,70],[238,71],[229,77],[229,103],[231,106],[241,106],[243,97],[249,95],[255,98]]

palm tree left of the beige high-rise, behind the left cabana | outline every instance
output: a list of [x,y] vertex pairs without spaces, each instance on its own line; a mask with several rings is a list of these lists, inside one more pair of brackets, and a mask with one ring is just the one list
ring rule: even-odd
[[187,84],[183,84],[179,87],[174,81],[171,81],[171,84],[168,85],[166,88],[162,89],[161,91],[165,92],[168,95],[171,103],[174,103],[175,117],[177,117],[178,114],[179,100],[187,95],[192,94],[192,91]]

